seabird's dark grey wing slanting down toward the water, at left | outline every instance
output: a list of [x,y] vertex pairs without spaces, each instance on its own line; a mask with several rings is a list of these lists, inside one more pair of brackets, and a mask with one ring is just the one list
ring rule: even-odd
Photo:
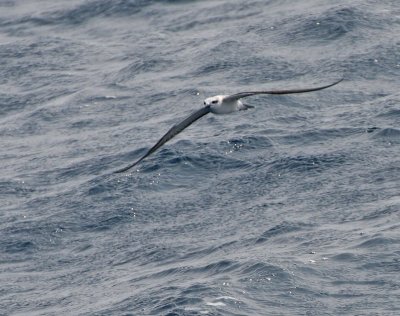
[[204,115],[206,115],[208,113],[210,113],[210,106],[203,107],[200,110],[197,110],[196,112],[192,113],[186,119],[184,119],[182,122],[172,126],[171,129],[163,137],[161,137],[161,139],[153,147],[151,147],[147,151],[147,153],[144,156],[142,156],[139,160],[135,161],[133,164],[131,164],[131,165],[125,167],[125,168],[122,168],[122,169],[119,169],[117,171],[114,171],[114,173],[125,172],[125,171],[131,169],[132,167],[136,166],[143,159],[145,159],[146,157],[150,156],[158,148],[160,148],[166,142],[168,142],[173,137],[175,137],[180,132],[182,132],[186,127],[188,127],[192,123],[196,122],[198,119],[200,119],[201,117],[203,117]]

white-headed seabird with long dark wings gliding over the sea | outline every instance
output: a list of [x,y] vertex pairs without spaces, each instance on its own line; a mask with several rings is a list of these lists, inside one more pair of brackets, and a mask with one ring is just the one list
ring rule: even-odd
[[332,87],[343,79],[340,79],[334,83],[331,83],[326,86],[316,87],[316,88],[306,88],[306,89],[293,89],[293,90],[261,90],[261,91],[249,91],[249,92],[240,92],[231,95],[216,95],[214,97],[210,97],[204,100],[204,107],[197,110],[196,112],[189,115],[182,122],[175,124],[171,127],[171,129],[163,136],[161,139],[151,147],[141,158],[136,160],[133,164],[126,166],[122,169],[115,171],[115,173],[125,172],[134,166],[136,166],[139,162],[141,162],[146,157],[150,156],[154,153],[158,148],[164,145],[166,142],[171,140],[173,137],[182,132],[186,127],[196,122],[198,119],[202,118],[204,115],[208,113],[213,114],[229,114],[236,111],[247,110],[249,108],[253,108],[253,106],[246,105],[242,103],[240,99],[245,97],[250,97],[252,95],[257,94],[292,94],[292,93],[304,93],[304,92],[312,92],[323,90],[329,87]]

